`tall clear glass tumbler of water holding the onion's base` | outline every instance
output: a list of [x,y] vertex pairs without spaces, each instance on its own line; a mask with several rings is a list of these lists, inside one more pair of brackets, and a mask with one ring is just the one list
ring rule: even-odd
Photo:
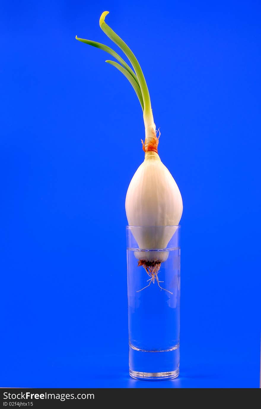
[[177,378],[180,226],[127,226],[126,230],[130,376]]

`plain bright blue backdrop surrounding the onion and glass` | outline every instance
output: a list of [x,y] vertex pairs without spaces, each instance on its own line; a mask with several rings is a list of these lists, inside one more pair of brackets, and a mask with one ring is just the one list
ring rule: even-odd
[[[75,40],[111,45],[104,10],[142,65],[184,201],[173,381],[128,376],[124,200],[144,125],[107,54]],[[2,2],[1,387],[259,387],[260,11]]]

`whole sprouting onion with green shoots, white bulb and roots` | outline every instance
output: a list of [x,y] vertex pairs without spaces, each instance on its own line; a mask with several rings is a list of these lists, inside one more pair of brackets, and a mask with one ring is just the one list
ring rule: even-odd
[[[166,249],[181,219],[182,198],[173,176],[159,158],[157,150],[159,137],[157,137],[144,74],[128,45],[106,24],[105,17],[108,13],[108,11],[102,13],[100,27],[106,36],[124,52],[132,68],[110,47],[77,36],[76,39],[106,51],[118,61],[106,60],[106,63],[113,65],[124,74],[133,86],[142,106],[145,126],[145,141],[142,140],[142,147],[145,158],[130,181],[125,209],[128,224],[133,226],[133,235],[139,245],[139,251],[135,252],[138,265],[144,267],[150,277],[150,283],[156,280],[159,285],[157,275],[161,263],[168,258],[168,252],[163,250]],[[135,229],[135,226],[142,226],[145,229]],[[156,226],[161,228],[155,229]],[[173,229],[164,229],[164,226],[173,226]],[[160,285],[159,287],[166,290]]]

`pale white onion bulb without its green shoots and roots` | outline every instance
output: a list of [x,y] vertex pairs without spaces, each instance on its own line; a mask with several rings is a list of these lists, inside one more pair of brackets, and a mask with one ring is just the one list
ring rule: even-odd
[[[181,219],[183,204],[177,183],[161,162],[156,152],[145,153],[144,162],[130,181],[126,202],[126,215],[130,226],[147,229],[133,229],[139,249],[165,249]],[[162,226],[161,229],[153,229]],[[167,252],[136,252],[139,259],[163,262]]]

